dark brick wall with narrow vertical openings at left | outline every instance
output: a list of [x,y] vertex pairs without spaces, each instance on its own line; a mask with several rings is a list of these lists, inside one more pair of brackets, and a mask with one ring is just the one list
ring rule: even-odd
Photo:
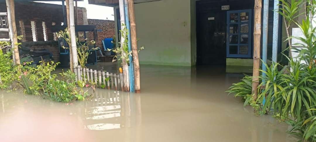
[[[83,11],[86,11],[86,9],[78,7],[78,25],[83,25]],[[0,12],[7,12],[6,3],[0,2]],[[55,22],[56,25],[61,25],[61,22],[64,22],[62,5],[34,2],[15,2],[15,21],[18,35],[21,35],[19,21],[23,21],[25,31],[24,38],[26,41],[26,43],[23,42],[23,45],[32,45],[33,50],[47,49],[53,52],[55,62],[59,62],[58,43],[54,42],[57,44],[52,44],[51,42],[47,42],[45,44],[45,42],[43,43],[41,41],[44,41],[42,22],[45,22],[46,24],[47,41],[53,41],[54,36],[51,31],[52,22]],[[35,22],[37,41],[39,41],[41,44],[30,44],[36,43],[33,42],[31,21]],[[3,37],[5,35],[0,34],[0,36]]]

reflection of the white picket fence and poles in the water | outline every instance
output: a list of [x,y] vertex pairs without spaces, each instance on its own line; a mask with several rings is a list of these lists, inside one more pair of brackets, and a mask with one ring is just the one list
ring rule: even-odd
[[86,129],[109,130],[141,124],[139,94],[97,89],[93,99],[85,105],[83,121],[87,121]]

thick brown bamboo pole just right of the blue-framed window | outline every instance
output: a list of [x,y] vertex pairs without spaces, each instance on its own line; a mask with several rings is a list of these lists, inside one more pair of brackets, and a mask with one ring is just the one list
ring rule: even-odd
[[261,9],[262,0],[255,0],[255,21],[254,21],[254,32],[253,32],[253,73],[252,73],[252,94],[253,98],[257,99],[258,91],[257,87],[259,84],[259,64],[260,64],[260,38],[261,38]]

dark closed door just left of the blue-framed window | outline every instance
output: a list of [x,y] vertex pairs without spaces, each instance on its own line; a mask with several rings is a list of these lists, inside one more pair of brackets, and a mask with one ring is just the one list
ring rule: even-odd
[[197,64],[226,64],[226,11],[197,15]]

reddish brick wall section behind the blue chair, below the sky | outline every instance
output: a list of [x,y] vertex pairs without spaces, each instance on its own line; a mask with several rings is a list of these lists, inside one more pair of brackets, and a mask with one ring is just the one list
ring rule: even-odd
[[[88,19],[89,25],[96,25],[98,30],[98,39],[96,40],[96,45],[100,47],[101,50],[104,50],[102,40],[104,38],[113,38],[115,35],[114,21],[111,20],[98,20],[98,19]],[[93,33],[89,33],[89,38],[93,39]]]

